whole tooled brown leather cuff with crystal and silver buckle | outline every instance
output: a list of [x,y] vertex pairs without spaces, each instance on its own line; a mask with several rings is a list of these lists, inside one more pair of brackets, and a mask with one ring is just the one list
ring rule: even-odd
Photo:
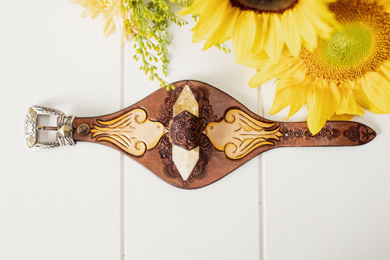
[[[367,125],[351,121],[327,121],[312,135],[306,122],[264,119],[206,83],[183,80],[173,85],[175,89],[159,89],[106,116],[78,118],[32,106],[25,118],[27,145],[42,150],[77,141],[104,144],[176,187],[196,189],[273,148],[354,146],[376,136]],[[57,126],[37,126],[38,115],[57,116]],[[39,129],[58,131],[58,140],[37,141]]]

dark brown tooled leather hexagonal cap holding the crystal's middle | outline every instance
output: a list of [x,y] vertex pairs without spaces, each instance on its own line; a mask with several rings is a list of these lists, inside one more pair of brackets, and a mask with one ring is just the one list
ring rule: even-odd
[[186,150],[191,150],[200,144],[202,120],[188,111],[183,111],[175,116],[171,120],[169,127],[171,143]]

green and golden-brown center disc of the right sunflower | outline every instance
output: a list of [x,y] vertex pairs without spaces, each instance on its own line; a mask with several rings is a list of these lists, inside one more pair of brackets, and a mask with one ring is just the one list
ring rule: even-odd
[[299,55],[309,74],[338,82],[375,71],[390,56],[389,14],[376,5],[341,2],[330,6],[341,27],[319,39],[313,53],[302,48]]

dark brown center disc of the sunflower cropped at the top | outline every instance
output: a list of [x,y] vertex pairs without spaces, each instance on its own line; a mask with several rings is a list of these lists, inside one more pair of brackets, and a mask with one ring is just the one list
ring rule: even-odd
[[283,12],[294,7],[298,0],[230,0],[242,10],[252,9],[260,12]]

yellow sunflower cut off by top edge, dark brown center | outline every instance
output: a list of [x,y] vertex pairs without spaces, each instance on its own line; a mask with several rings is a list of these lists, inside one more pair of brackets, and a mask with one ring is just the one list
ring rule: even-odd
[[276,62],[285,44],[297,57],[301,45],[313,50],[317,36],[329,37],[335,20],[328,5],[334,1],[195,0],[179,14],[199,15],[192,40],[206,40],[203,50],[232,38],[238,63],[263,49]]

